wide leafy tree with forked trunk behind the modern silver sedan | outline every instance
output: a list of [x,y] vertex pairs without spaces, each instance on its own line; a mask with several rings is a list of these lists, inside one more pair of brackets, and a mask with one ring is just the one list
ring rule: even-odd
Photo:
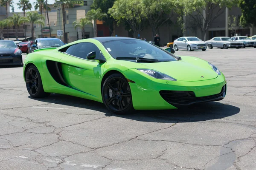
[[184,6],[184,13],[200,28],[202,39],[206,40],[211,23],[223,14],[226,6],[231,8],[236,0],[180,0],[180,3]]

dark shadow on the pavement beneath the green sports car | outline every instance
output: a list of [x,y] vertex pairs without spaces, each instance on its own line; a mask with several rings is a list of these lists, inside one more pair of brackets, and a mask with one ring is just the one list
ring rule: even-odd
[[[29,96],[29,98],[34,99],[31,96]],[[106,116],[116,116],[142,122],[199,122],[222,119],[240,112],[240,108],[233,105],[223,104],[220,102],[207,102],[174,110],[134,111],[130,114],[118,115],[108,111],[103,103],[74,96],[51,94],[49,97],[35,100],[90,109],[102,112],[102,114],[105,113]]]

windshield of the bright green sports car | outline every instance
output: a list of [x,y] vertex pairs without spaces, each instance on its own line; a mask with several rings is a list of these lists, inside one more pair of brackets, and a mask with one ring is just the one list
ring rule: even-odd
[[114,59],[153,59],[156,62],[176,61],[175,55],[142,40],[113,40],[103,42]]

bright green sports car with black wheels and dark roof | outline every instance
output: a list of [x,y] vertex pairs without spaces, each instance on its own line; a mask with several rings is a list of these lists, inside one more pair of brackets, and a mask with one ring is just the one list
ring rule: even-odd
[[35,50],[23,76],[32,97],[77,96],[119,114],[224,99],[226,79],[218,68],[174,52],[134,38],[90,38]]

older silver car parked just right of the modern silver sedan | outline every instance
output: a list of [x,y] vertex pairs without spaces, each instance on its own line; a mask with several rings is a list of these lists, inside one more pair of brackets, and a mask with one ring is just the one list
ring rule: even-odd
[[227,48],[242,48],[244,46],[243,42],[232,41],[230,37],[213,37],[211,40],[206,41],[208,48],[213,47],[227,49]]

